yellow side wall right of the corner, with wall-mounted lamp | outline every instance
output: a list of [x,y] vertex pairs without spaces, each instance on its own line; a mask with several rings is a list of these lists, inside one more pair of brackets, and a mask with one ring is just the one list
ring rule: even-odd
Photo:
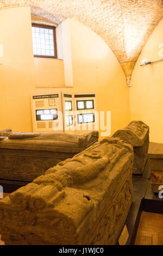
[[[163,143],[163,61],[145,66],[140,64],[142,59],[152,62],[163,58],[163,51],[159,48],[163,44],[162,30],[163,20],[154,29],[137,59],[132,75],[133,87],[130,88],[131,120],[146,123],[150,129],[150,141],[158,143]],[[159,56],[159,51],[162,56]]]

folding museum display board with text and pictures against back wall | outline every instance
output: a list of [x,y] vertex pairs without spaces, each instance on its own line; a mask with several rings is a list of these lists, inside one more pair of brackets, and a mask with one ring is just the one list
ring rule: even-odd
[[[96,124],[96,94],[53,92],[31,95],[34,132],[87,130]],[[78,129],[71,129],[71,127]],[[80,129],[79,129],[80,128]],[[95,130],[95,129],[89,129]]]

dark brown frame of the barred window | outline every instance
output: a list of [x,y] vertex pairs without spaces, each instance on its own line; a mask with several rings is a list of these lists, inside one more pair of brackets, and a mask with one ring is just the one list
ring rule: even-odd
[[[53,29],[53,41],[54,41],[54,56],[35,55],[35,54],[34,54],[34,57],[37,57],[37,58],[52,58],[52,59],[57,59],[56,27],[54,27],[54,26],[48,26],[48,25],[43,25],[43,24],[36,24],[36,23],[32,23],[32,27]],[[33,36],[32,36],[32,38],[33,38]]]

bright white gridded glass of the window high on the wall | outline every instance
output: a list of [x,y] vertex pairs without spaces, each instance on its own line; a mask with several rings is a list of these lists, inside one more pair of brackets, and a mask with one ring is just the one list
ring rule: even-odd
[[32,26],[34,55],[54,56],[53,29]]

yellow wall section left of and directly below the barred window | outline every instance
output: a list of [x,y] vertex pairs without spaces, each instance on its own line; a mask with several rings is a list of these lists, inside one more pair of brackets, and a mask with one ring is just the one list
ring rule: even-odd
[[62,60],[33,57],[30,7],[0,10],[0,44],[0,130],[30,132],[30,94],[45,92],[35,88],[42,84],[64,85]]

